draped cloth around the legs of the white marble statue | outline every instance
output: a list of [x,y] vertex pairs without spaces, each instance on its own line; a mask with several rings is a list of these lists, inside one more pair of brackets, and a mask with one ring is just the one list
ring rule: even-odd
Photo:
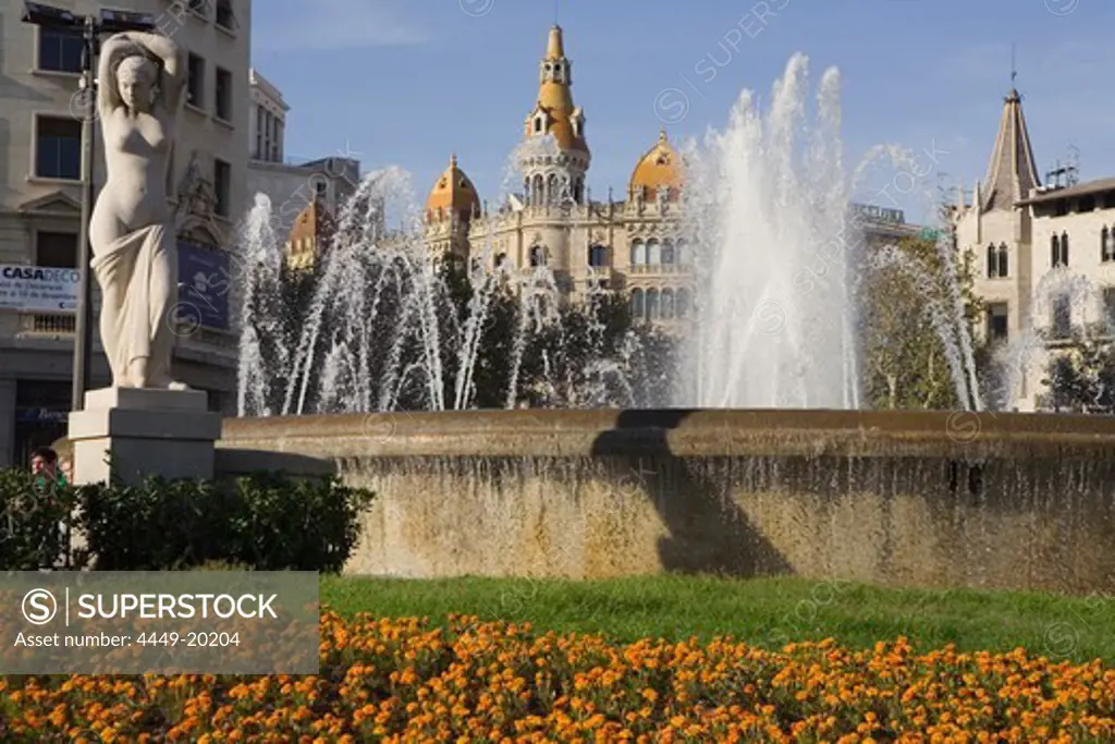
[[[165,225],[147,225],[97,247],[90,265],[104,293],[100,338],[113,376],[120,379],[138,358],[148,359],[147,376],[169,375],[174,346],[174,297],[178,287],[177,244]],[[162,290],[162,291],[159,291]]]

